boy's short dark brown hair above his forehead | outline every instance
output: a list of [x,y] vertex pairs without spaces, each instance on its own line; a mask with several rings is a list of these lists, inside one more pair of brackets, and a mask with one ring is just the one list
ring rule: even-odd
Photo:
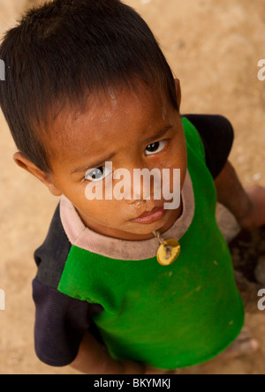
[[[119,0],[55,0],[32,9],[4,36],[0,105],[19,151],[44,172],[39,131],[49,110],[140,79],[178,109],[174,77],[154,34]],[[42,126],[43,128],[43,126]]]

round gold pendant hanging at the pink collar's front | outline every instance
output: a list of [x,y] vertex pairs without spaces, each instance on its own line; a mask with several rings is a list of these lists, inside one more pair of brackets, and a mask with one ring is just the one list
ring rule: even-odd
[[178,259],[180,253],[179,242],[177,239],[164,240],[157,230],[155,230],[153,234],[158,239],[160,244],[156,254],[157,261],[162,266],[170,266],[170,264]]

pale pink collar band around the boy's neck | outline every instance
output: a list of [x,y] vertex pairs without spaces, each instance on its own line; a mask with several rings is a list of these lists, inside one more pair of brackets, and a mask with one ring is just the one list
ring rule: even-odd
[[[195,202],[193,183],[188,171],[181,196],[183,213],[170,230],[163,233],[164,239],[175,238],[179,240],[193,222]],[[60,215],[64,231],[71,244],[88,252],[116,260],[147,260],[156,256],[158,243],[155,237],[143,241],[125,241],[102,236],[84,225],[76,208],[65,196],[60,202]]]

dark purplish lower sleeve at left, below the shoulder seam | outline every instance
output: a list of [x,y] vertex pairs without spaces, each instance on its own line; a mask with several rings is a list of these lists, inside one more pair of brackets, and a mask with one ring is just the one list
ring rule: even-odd
[[85,332],[91,328],[95,335],[91,317],[101,311],[99,305],[65,296],[37,279],[33,282],[33,295],[37,357],[49,366],[70,365],[77,357]]

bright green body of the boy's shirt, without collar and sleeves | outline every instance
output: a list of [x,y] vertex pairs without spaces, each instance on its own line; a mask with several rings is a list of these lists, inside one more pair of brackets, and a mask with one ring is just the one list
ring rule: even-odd
[[239,335],[244,309],[216,224],[216,190],[199,133],[183,118],[193,222],[169,267],[114,260],[72,245],[58,290],[102,305],[93,319],[110,355],[177,369],[216,357]]

